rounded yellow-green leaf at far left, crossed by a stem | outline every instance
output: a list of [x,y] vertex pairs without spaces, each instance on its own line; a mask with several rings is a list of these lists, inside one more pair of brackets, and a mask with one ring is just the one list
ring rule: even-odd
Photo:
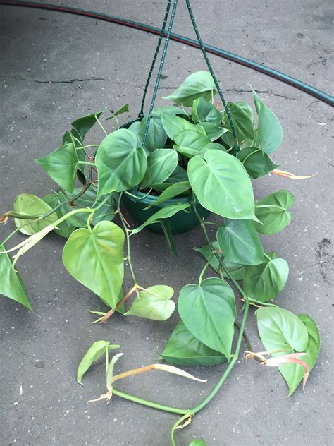
[[[18,195],[14,200],[13,210],[22,215],[44,215],[51,210],[51,207],[41,200],[41,198],[38,198],[36,195],[32,195],[32,193],[20,193],[20,195]],[[56,212],[54,212],[47,218],[39,220],[35,223],[27,224],[27,226],[20,229],[20,232],[22,232],[22,234],[26,234],[27,236],[32,236],[32,234],[42,231],[42,229],[49,226],[49,224],[56,222],[56,219],[58,219],[58,217]],[[33,219],[14,219],[17,228],[32,221]]]

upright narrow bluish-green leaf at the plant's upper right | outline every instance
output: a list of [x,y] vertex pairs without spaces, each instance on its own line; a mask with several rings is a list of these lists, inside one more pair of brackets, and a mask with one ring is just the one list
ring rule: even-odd
[[253,92],[253,98],[259,115],[258,130],[261,149],[266,153],[273,153],[282,143],[282,126],[275,114],[268,109],[256,92]]

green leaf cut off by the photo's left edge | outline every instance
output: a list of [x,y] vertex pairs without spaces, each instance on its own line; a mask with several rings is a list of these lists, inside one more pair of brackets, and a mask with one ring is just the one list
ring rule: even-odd
[[9,255],[3,254],[6,251],[0,244],[0,294],[21,303],[28,310],[32,311],[25,287],[18,272],[12,268],[12,262]]

